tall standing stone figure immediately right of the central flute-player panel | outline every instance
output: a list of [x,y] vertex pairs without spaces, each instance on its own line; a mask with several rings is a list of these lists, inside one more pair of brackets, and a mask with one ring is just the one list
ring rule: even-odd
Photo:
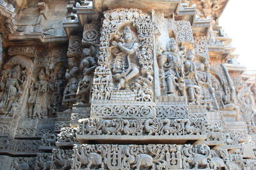
[[[184,73],[178,45],[174,38],[171,38],[167,51],[163,53],[166,60],[164,67],[164,77],[166,78],[167,94],[174,96],[175,87],[178,87],[180,96],[184,96]],[[161,60],[163,60],[161,59]],[[160,61],[160,63],[163,63]],[[161,66],[160,66],[161,67]]]

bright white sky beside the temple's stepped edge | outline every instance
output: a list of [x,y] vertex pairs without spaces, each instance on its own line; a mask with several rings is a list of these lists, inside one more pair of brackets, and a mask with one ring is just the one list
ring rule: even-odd
[[256,1],[229,0],[219,25],[232,38],[238,61],[248,70],[256,70]]

